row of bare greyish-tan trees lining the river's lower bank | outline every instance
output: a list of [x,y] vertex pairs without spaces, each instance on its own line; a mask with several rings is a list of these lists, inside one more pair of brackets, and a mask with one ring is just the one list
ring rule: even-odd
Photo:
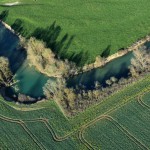
[[99,82],[95,82],[94,90],[85,90],[81,88],[67,88],[65,79],[58,79],[57,82],[50,80],[43,87],[47,99],[54,99],[59,102],[64,110],[71,115],[85,110],[93,103],[100,102],[119,91],[123,87],[137,81],[141,76],[150,72],[150,53],[146,49],[133,52],[131,59],[130,73],[128,78],[117,79],[111,77],[106,80],[107,87],[102,87]]

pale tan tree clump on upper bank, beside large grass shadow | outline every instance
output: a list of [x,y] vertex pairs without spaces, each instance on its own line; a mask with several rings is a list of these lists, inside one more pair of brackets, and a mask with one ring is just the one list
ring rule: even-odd
[[46,48],[42,41],[30,38],[24,45],[26,45],[30,64],[49,77],[68,76],[76,70],[74,63],[57,59],[55,54],[49,48]]

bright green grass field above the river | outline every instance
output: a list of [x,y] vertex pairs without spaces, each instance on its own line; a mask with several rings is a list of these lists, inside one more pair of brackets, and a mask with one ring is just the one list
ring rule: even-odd
[[68,40],[72,37],[70,47],[59,53],[71,60],[80,57],[81,64],[94,61],[108,46],[112,54],[150,33],[149,0],[1,0],[0,4],[16,1],[20,5],[0,6],[0,11],[9,10],[8,24],[21,19],[30,34],[56,21],[61,28],[56,41],[66,33]]

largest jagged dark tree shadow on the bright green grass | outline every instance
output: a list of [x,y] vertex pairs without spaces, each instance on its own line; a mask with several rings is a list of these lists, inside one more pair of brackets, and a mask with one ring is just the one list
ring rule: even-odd
[[38,40],[42,40],[46,43],[46,46],[50,48],[57,57],[61,59],[68,59],[69,61],[75,62],[77,65],[82,65],[85,60],[87,60],[87,52],[76,53],[73,52],[69,54],[68,50],[75,38],[75,35],[61,35],[62,28],[59,25],[56,25],[54,21],[47,28],[37,28],[31,34],[30,37],[35,37]]

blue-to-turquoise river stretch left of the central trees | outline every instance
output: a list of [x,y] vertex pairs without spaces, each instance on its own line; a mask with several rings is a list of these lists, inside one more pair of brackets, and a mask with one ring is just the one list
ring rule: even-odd
[[19,81],[17,83],[19,90],[16,93],[35,98],[43,96],[42,87],[49,78],[29,66],[26,50],[19,46],[19,38],[2,24],[0,24],[0,56],[9,59],[15,80]]

